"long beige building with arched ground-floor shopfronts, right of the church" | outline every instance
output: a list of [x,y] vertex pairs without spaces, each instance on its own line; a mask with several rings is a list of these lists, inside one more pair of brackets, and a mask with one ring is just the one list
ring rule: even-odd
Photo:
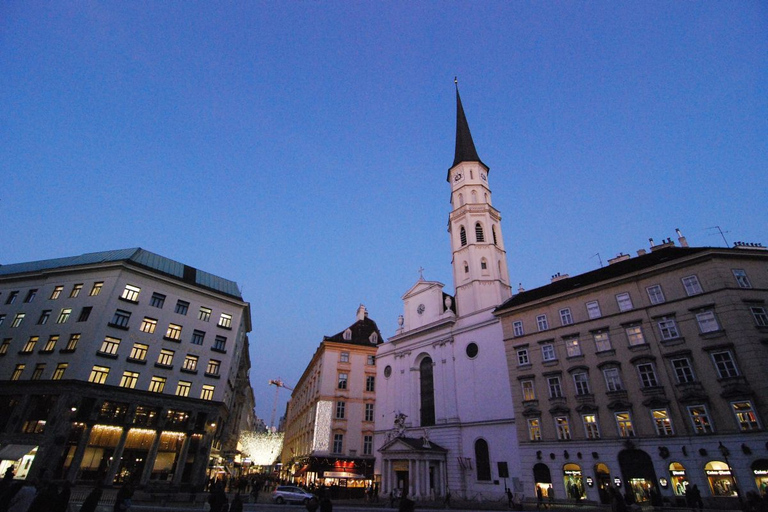
[[768,251],[678,235],[496,310],[529,496],[768,486]]

